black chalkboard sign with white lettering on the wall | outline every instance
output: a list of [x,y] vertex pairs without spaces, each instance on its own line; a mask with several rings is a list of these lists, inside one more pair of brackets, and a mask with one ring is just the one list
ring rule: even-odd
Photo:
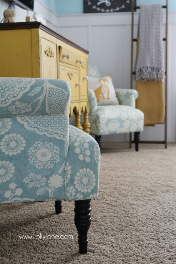
[[131,4],[132,0],[84,0],[84,13],[130,12]]

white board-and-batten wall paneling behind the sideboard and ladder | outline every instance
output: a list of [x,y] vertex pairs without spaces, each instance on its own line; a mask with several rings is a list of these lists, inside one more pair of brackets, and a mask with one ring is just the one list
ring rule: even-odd
[[[0,10],[8,6],[0,0]],[[17,22],[25,21],[33,12],[15,9]],[[130,88],[131,13],[94,13],[58,15],[40,0],[34,10],[44,16],[47,26],[89,50],[89,63],[98,66],[101,76],[112,74],[115,88]],[[0,19],[2,19],[2,13]],[[139,13],[134,16],[134,37],[137,34]],[[164,13],[165,27],[165,13]],[[168,141],[176,142],[176,12],[169,11],[168,21]],[[164,30],[165,34],[165,30]],[[165,37],[165,36],[163,36]],[[164,43],[165,48],[165,43]],[[134,44],[135,58],[136,43]],[[135,88],[135,82],[133,87]],[[128,134],[103,136],[104,141],[125,141]],[[164,125],[145,127],[141,140],[164,140]]]

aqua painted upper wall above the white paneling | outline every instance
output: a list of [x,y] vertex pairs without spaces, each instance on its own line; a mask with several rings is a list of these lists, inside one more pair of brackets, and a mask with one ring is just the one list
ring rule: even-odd
[[[83,0],[41,0],[59,15],[83,13]],[[137,0],[139,4],[166,4],[166,0]],[[176,0],[169,0],[169,11],[176,11]]]

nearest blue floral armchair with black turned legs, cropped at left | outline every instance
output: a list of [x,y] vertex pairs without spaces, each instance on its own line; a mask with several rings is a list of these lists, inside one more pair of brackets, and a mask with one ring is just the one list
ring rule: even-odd
[[87,253],[100,152],[69,125],[69,103],[65,81],[0,78],[0,203],[54,200],[59,214],[62,200],[74,200],[79,252]]

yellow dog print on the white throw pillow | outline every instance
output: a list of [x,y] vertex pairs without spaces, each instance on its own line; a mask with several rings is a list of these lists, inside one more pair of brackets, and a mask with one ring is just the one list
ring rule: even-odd
[[[99,83],[101,83],[101,86],[98,87],[96,90],[94,90],[94,93],[97,97],[97,102],[99,103],[100,101],[104,99],[110,99],[109,93],[110,93],[110,88],[108,87],[108,80],[107,79],[100,79]],[[107,95],[107,97],[106,97]]]

